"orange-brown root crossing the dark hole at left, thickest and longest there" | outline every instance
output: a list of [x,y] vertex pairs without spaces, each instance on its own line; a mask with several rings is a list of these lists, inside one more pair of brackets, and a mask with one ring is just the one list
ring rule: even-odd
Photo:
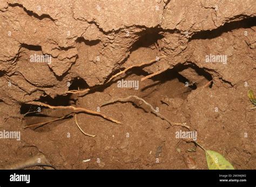
[[42,102],[28,102],[27,104],[45,106],[45,107],[48,107],[50,109],[71,109],[71,110],[73,110],[75,112],[79,112],[80,111],[80,112],[85,112],[85,113],[93,114],[93,115],[96,115],[96,116],[100,116],[100,117],[102,117],[104,119],[107,119],[109,121],[112,121],[113,123],[121,124],[120,121],[115,120],[115,119],[113,119],[111,117],[108,117],[108,116],[106,116],[103,113],[95,112],[95,111],[88,110],[88,109],[85,109],[85,108],[82,108],[82,107],[75,107],[75,106],[51,106],[49,104],[45,104],[45,103],[42,103]]

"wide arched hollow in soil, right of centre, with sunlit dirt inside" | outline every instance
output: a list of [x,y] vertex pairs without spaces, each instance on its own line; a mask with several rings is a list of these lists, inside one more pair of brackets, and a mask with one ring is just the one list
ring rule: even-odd
[[[183,70],[188,71],[188,74],[187,72],[184,74]],[[158,106],[159,99],[163,97],[186,99],[192,90],[206,84],[210,88],[212,86],[211,74],[202,68],[193,66],[193,64],[178,64],[174,68],[150,78],[150,80],[147,80],[141,92],[143,97],[153,103],[154,106]]]

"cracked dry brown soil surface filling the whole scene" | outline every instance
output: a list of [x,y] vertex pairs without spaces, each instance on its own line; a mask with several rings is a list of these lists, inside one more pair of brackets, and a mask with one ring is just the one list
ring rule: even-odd
[[256,1],[1,0],[0,25],[0,168],[208,169],[190,131],[256,169]]

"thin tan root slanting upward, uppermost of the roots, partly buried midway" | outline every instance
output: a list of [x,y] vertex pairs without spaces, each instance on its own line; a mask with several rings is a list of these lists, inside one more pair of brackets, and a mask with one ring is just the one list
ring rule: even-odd
[[[140,63],[140,64],[134,64],[134,65],[132,65],[132,66],[129,66],[129,67],[125,68],[123,71],[120,71],[120,72],[118,72],[117,74],[115,74],[115,75],[113,75],[112,77],[110,77],[110,79],[109,79],[106,83],[104,83],[104,84],[109,83],[110,81],[113,80],[113,78],[116,78],[116,77],[118,77],[119,75],[124,74],[127,70],[129,70],[129,69],[131,69],[131,68],[134,68],[134,67],[141,67],[141,66],[144,66],[144,65],[149,65],[149,64],[154,63],[154,62],[157,62],[157,61],[159,61],[160,59],[163,59],[163,58],[165,58],[165,55],[159,56],[158,60],[157,60],[157,59],[154,59],[154,60],[151,60],[151,61],[149,61],[149,62],[143,62],[143,63]],[[103,85],[104,85],[104,84],[103,84]],[[102,86],[102,85],[100,85],[100,86]],[[98,88],[98,87],[96,87],[96,88]],[[83,94],[83,93],[87,93],[87,92],[90,91],[90,90],[91,90],[90,88],[87,88],[87,89],[82,90],[82,91],[79,91],[79,90],[69,90],[69,91],[67,91],[66,93],[75,93],[75,94],[76,94],[76,93],[81,93],[81,94]]]

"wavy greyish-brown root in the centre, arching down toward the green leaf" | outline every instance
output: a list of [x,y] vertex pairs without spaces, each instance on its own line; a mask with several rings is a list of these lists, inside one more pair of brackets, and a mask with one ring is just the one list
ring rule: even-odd
[[[171,126],[182,126],[182,127],[185,127],[187,128],[188,130],[190,130],[190,126],[187,126],[186,123],[174,123],[174,122],[171,122],[170,120],[168,120],[166,117],[164,117],[163,115],[161,115],[159,112],[157,112],[156,110],[154,110],[153,106],[149,103],[147,103],[143,98],[140,98],[138,96],[129,96],[129,97],[126,97],[126,98],[117,98],[117,99],[114,99],[114,100],[110,100],[109,102],[106,102],[106,103],[103,103],[101,106],[104,106],[104,105],[108,105],[108,104],[111,104],[111,103],[116,103],[116,102],[132,102],[134,103],[131,98],[135,98],[135,99],[138,99],[138,100],[141,100],[144,104],[146,104],[147,106],[150,107],[152,113],[154,113],[156,116],[158,116],[159,118],[167,121],[167,123],[169,123]],[[134,103],[135,104],[135,103]]]

